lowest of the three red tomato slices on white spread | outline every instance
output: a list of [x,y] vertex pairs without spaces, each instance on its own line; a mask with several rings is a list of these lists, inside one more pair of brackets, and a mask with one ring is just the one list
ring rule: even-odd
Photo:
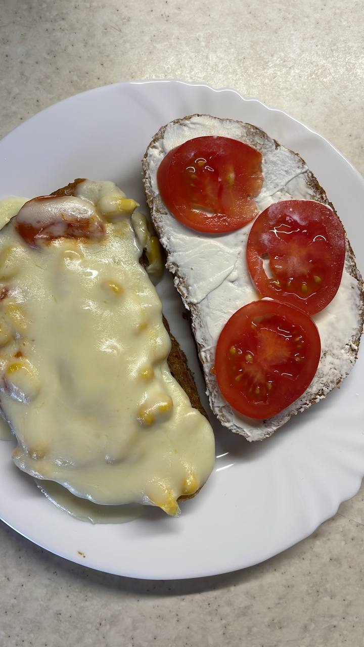
[[312,382],[320,336],[308,314],[286,303],[249,303],[231,316],[216,347],[215,372],[223,396],[249,418],[285,409]]

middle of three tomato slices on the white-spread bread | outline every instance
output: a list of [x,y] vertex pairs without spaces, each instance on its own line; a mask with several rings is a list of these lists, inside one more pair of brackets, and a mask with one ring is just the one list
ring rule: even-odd
[[312,200],[271,204],[247,241],[247,264],[260,295],[310,314],[336,295],[344,261],[343,225],[332,209]]

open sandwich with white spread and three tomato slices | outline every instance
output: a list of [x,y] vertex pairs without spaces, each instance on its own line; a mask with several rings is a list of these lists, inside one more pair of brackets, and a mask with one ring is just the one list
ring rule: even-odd
[[343,225],[304,160],[251,124],[170,122],[142,168],[212,411],[262,440],[358,357],[363,281]]

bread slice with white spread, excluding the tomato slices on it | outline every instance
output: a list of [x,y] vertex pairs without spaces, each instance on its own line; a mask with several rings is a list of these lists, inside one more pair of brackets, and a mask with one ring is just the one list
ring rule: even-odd
[[[191,115],[163,126],[150,142],[142,159],[144,188],[152,221],[166,250],[166,267],[174,274],[185,307],[190,311],[210,406],[223,426],[248,441],[266,438],[293,414],[326,397],[348,375],[358,357],[363,330],[363,280],[347,240],[343,278],[336,297],[314,316],[321,336],[322,355],[317,373],[306,392],[284,411],[265,421],[251,421],[233,410],[223,398],[214,375],[214,350],[230,316],[256,299],[245,261],[251,224],[229,234],[200,234],[177,222],[161,200],[157,169],[168,151],[203,135],[240,140],[263,156],[264,183],[255,198],[260,211],[287,199],[311,199],[334,209],[304,160],[269,137],[264,131],[229,119]],[[334,209],[335,211],[335,209]]]

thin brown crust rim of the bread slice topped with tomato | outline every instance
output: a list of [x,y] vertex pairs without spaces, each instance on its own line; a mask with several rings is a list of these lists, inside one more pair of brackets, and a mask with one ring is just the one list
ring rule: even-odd
[[[184,124],[185,122],[188,122],[196,117],[203,117],[203,116],[209,117],[209,115],[199,115],[198,113],[196,113],[195,115],[188,115],[186,117],[176,119],[173,122],[170,122],[170,124]],[[217,119],[217,118],[214,118],[214,119]],[[225,120],[221,120],[221,121],[225,121]],[[226,121],[229,121],[229,120],[226,120]],[[264,151],[264,146],[268,141],[269,141],[269,144],[273,142],[276,149],[284,148],[280,146],[279,142],[277,142],[276,140],[272,140],[264,131],[262,131],[258,127],[253,126],[252,124],[244,124],[244,122],[235,122],[235,123],[240,124],[241,126],[244,126],[246,143],[253,146],[253,148],[260,150],[260,152]],[[155,195],[154,191],[152,190],[150,168],[148,164],[148,153],[154,146],[157,145],[158,142],[163,140],[166,128],[170,126],[170,124],[166,124],[165,126],[161,127],[161,129],[159,129],[159,131],[155,134],[154,138],[148,145],[148,148],[146,149],[146,153],[142,158],[142,171],[144,175],[144,190],[146,193],[146,201],[150,208],[155,230],[157,231],[157,234],[160,239],[163,239],[163,217],[166,214],[166,208],[159,194]],[[293,151],[289,151],[289,152],[291,153],[291,155],[295,156],[295,159],[297,160],[297,164],[301,165],[302,169],[305,168],[306,186],[310,189],[310,192],[312,193],[312,199],[317,202],[330,206],[332,210],[336,213],[334,205],[330,203],[330,201],[328,200],[328,197],[324,192],[324,189],[319,184],[319,182],[313,175],[312,171],[310,171],[306,167],[306,162],[304,162],[304,160],[300,155],[298,155],[298,153],[294,153]],[[350,274],[350,276],[352,276],[352,278],[354,278],[358,282],[359,295],[360,295],[359,297],[360,304],[359,304],[359,311],[358,311],[359,325],[358,325],[356,334],[353,336],[353,338],[351,338],[350,344],[348,344],[348,347],[347,347],[347,353],[348,355],[351,356],[352,361],[354,363],[354,361],[358,358],[358,348],[359,348],[361,333],[363,330],[364,291],[363,291],[363,279],[361,278],[361,274],[358,270],[358,267],[356,266],[354,252],[352,250],[352,247],[350,245],[350,242],[348,241],[346,234],[345,234],[345,239],[346,239],[345,269],[347,270],[348,274]],[[165,246],[165,250],[166,250],[166,255],[168,259],[168,257],[170,256],[171,250],[166,246]],[[188,297],[186,297],[186,295],[188,294],[188,286],[184,284],[183,278],[179,276],[178,267],[176,266],[176,264],[174,264],[172,268],[171,265],[169,265],[169,267],[175,273],[175,276],[176,276],[175,285],[177,287],[177,290],[180,292],[183,298],[183,302],[185,303],[185,306],[188,308],[188,310],[190,310],[190,315],[191,315],[190,325],[192,328],[192,333],[194,333],[194,336],[196,338],[196,334],[195,334],[196,329],[198,329],[198,327],[203,327],[204,322],[201,321],[199,311],[196,305],[194,303],[188,302]],[[167,267],[168,267],[168,262],[167,262]],[[203,369],[204,367],[203,358],[200,352],[198,353],[198,355],[199,355],[199,362]],[[216,378],[214,378],[214,376],[209,378],[209,375],[207,375],[206,371],[203,371],[203,372],[205,375],[207,389],[209,391],[210,400],[211,400],[211,394],[213,393],[213,390],[216,389]],[[235,428],[232,428],[232,431],[235,433],[240,433],[241,435],[244,435],[248,441],[252,441],[256,439],[263,440],[264,438],[268,437],[273,432],[275,432],[275,430],[277,430],[280,426],[282,426],[282,424],[285,424],[286,422],[288,422],[288,420],[291,418],[292,415],[298,413],[299,411],[303,411],[304,409],[311,406],[311,404],[313,404],[314,402],[318,402],[319,400],[326,397],[326,395],[328,394],[328,391],[331,391],[332,389],[338,387],[343,381],[343,379],[346,377],[346,375],[347,373],[345,375],[341,375],[341,377],[335,380],[334,382],[331,382],[330,388],[327,388],[326,384],[323,385],[322,388],[317,389],[317,391],[313,393],[313,395],[308,400],[304,402],[302,402],[301,399],[297,400],[297,408],[295,408],[295,406],[291,406],[291,408],[288,408],[288,410],[284,410],[282,412],[282,415],[279,414],[278,417],[275,417],[275,419],[277,418],[277,424],[274,426],[274,428],[267,429],[266,432],[262,433],[262,435],[259,438],[250,437],[249,435],[247,435],[247,433],[244,432],[242,428],[239,429],[238,426],[235,426]],[[217,411],[214,410],[214,406],[212,406],[212,411],[214,411],[214,413],[218,415]],[[221,413],[219,413],[218,418],[220,419],[222,424],[226,422],[226,420],[223,418],[223,415],[221,415]],[[268,421],[263,421],[263,424],[265,424],[266,422]]]

